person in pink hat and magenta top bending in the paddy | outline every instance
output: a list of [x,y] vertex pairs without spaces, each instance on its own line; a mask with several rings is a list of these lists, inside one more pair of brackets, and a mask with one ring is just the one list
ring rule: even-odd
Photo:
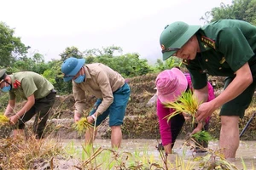
[[[155,80],[155,85],[157,89],[157,116],[159,118],[160,139],[165,152],[171,154],[177,135],[180,133],[187,117],[185,113],[183,113],[184,116],[180,113],[177,116],[173,116],[170,121],[167,122],[167,118],[165,117],[172,114],[174,110],[166,108],[164,104],[176,101],[183,92],[188,92],[189,90],[192,90],[193,92],[191,77],[188,73],[183,74],[179,69],[172,68],[171,70],[161,71]],[[207,83],[207,89],[207,101],[210,101],[215,98],[214,90],[210,82]],[[207,131],[209,121],[210,116],[205,120],[205,125],[203,125],[202,122],[198,124],[196,123],[194,125],[195,129],[190,135],[200,132],[201,130]],[[207,148],[208,144],[202,143],[201,145]],[[201,150],[200,147],[197,147],[196,151],[203,150]]]

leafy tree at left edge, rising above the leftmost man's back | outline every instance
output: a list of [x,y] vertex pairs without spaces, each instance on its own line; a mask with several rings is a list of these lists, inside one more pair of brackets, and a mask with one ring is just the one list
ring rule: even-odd
[[29,46],[25,46],[20,37],[14,36],[15,30],[0,22],[0,66],[10,67],[19,56],[27,53]]

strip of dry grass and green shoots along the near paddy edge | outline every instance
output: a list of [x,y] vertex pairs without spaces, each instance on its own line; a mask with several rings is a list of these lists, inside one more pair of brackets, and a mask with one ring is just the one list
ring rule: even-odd
[[[183,153],[194,146],[183,145]],[[1,169],[55,169],[65,162],[66,167],[77,169],[238,169],[224,160],[221,150],[207,149],[205,156],[176,155],[174,159],[159,151],[159,156],[150,154],[148,148],[128,152],[95,145],[66,145],[58,139],[0,139]],[[243,161],[242,161],[243,162]],[[246,165],[243,162],[243,167]]]

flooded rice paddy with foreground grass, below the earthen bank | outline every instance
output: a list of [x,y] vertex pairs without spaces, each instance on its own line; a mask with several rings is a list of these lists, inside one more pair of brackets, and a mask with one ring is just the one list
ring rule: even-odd
[[193,144],[178,139],[173,154],[157,150],[154,139],[125,139],[119,150],[109,139],[96,139],[92,146],[83,139],[1,140],[1,169],[255,169],[255,141],[241,141],[237,157],[224,160],[218,140],[210,141],[208,152],[195,153]]

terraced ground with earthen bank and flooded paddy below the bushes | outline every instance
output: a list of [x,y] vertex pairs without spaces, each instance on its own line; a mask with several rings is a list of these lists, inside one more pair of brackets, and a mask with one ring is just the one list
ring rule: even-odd
[[[0,170],[1,169],[255,169],[256,163],[256,118],[241,137],[236,159],[225,160],[218,149],[220,118],[218,111],[212,114],[209,133],[212,140],[206,153],[195,153],[193,141],[185,140],[191,132],[191,122],[186,122],[174,145],[173,154],[166,156],[157,150],[160,133],[155,114],[154,79],[156,75],[134,77],[129,80],[131,99],[127,105],[121,148],[110,145],[108,119],[98,127],[93,145],[84,145],[84,131],[88,124],[73,122],[73,95],[58,96],[50,112],[45,130],[45,139],[37,140],[32,134],[32,121],[26,123],[26,135],[18,139],[9,138],[12,128],[0,127]],[[220,81],[220,80],[219,80]],[[216,92],[221,90],[221,81]],[[240,131],[256,110],[255,97],[239,122]],[[88,95],[89,113],[96,99]],[[22,105],[22,103],[20,103]],[[17,106],[17,110],[19,105]],[[6,117],[0,117],[7,122]],[[81,125],[81,126],[80,126]],[[80,131],[81,130],[81,131]],[[82,132],[82,133],[81,133]]]

